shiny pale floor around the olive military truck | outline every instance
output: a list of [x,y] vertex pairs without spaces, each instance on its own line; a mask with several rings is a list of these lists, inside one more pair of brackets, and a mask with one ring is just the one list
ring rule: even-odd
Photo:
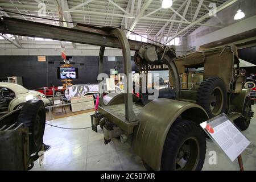
[[[253,105],[256,115],[256,105]],[[52,125],[61,127],[88,127],[90,113],[74,115],[49,121]],[[243,132],[251,142],[256,143],[256,116],[251,119],[249,129]],[[131,151],[129,144],[122,144],[114,139],[108,145],[104,144],[102,130],[98,133],[91,129],[65,130],[46,125],[44,143],[51,144],[51,149],[44,153],[44,164],[35,162],[32,170],[145,170],[142,160]],[[209,152],[216,151],[217,163],[209,164]],[[245,170],[256,170],[256,150],[244,163]],[[203,170],[238,170],[237,162],[230,162],[222,151],[207,140],[207,155]]]

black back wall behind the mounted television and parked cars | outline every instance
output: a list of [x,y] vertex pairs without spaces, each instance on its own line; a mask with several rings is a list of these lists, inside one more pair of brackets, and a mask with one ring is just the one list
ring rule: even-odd
[[[98,56],[72,56],[72,67],[79,69],[79,78],[73,84],[94,84],[98,76]],[[132,57],[133,59],[133,57]],[[49,64],[53,61],[53,64]],[[35,89],[43,86],[60,86],[62,82],[57,79],[57,67],[60,67],[61,56],[46,56],[46,62],[38,62],[37,56],[0,56],[0,77],[21,76],[23,86]],[[84,65],[80,65],[80,64]],[[134,62],[132,61],[133,67]],[[119,73],[123,73],[122,56],[115,56],[115,61],[108,61],[104,57],[104,72],[110,75],[110,69],[117,66]]]

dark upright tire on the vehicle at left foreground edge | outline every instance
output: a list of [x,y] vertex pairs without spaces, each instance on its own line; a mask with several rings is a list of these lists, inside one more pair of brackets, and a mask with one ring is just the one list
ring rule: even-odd
[[30,140],[30,154],[40,151],[43,144],[44,128],[46,126],[46,110],[44,102],[27,101],[20,109],[17,125],[23,123],[28,127]]

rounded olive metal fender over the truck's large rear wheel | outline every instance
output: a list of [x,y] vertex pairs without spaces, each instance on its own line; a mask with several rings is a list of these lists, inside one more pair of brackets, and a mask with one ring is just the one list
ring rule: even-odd
[[201,123],[209,119],[203,107],[183,101],[158,98],[143,107],[138,115],[132,147],[152,169],[160,170],[167,133],[178,117]]

